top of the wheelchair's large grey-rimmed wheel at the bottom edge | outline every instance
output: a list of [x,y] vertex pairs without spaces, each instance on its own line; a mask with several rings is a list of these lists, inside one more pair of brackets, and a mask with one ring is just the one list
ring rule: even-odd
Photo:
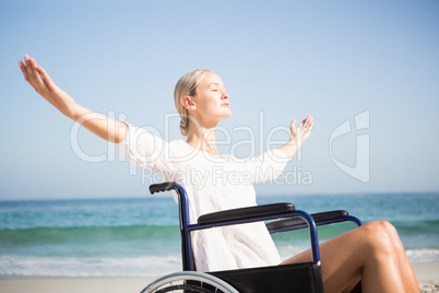
[[181,271],[158,278],[141,293],[239,293],[223,280],[207,273],[197,271]]

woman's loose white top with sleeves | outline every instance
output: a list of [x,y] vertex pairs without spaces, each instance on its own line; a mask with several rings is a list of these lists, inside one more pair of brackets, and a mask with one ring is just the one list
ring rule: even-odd
[[[161,174],[165,181],[182,185],[188,194],[191,223],[205,213],[256,206],[252,184],[275,179],[288,161],[276,149],[247,160],[220,157],[182,140],[165,142],[131,125],[126,140],[117,146],[131,163]],[[191,241],[198,271],[281,262],[263,222],[195,231]]]

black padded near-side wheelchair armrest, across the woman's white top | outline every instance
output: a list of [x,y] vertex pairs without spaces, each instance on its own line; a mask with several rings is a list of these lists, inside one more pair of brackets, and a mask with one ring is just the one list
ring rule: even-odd
[[[216,223],[220,221],[234,221],[234,220],[244,220],[247,218],[253,216],[269,216],[275,215],[282,212],[294,212],[296,208],[293,203],[272,203],[272,204],[262,204],[249,208],[240,208],[226,210],[221,212],[213,212],[200,215],[198,219],[199,224],[210,224]],[[305,222],[304,222],[305,223]]]

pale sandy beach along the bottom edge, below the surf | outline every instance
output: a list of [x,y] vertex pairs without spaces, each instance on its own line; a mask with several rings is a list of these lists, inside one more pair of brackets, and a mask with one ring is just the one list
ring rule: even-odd
[[[439,261],[413,263],[422,292],[439,292]],[[1,293],[140,292],[155,278],[15,278],[0,279]]]

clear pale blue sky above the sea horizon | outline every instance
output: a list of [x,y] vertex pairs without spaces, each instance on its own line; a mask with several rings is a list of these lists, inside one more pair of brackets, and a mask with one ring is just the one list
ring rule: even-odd
[[[211,69],[232,96],[221,127],[233,140],[220,150],[237,156],[264,151],[271,130],[312,115],[289,183],[258,185],[260,195],[438,191],[438,16],[437,1],[0,0],[0,199],[149,194],[140,169],[130,175],[83,129],[81,152],[107,160],[78,155],[73,122],[23,80],[24,54],[79,104],[161,133],[176,113],[177,80]],[[361,113],[367,127],[356,130]],[[346,120],[352,131],[334,137]],[[169,140],[181,139],[178,122],[169,120]],[[249,140],[242,127],[256,148],[232,149]],[[358,157],[367,157],[364,181],[335,163],[355,168]]]

